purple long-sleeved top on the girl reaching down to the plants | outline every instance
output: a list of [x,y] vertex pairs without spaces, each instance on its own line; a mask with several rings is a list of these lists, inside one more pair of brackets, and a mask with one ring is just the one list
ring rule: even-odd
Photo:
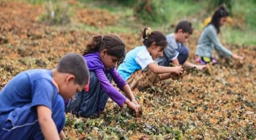
[[110,74],[114,82],[120,90],[123,91],[124,85],[127,85],[127,82],[118,74],[116,68],[106,70],[100,57],[99,52],[93,52],[88,55],[83,56],[86,60],[89,71],[94,71],[97,79],[99,80],[100,87],[108,94],[108,96],[118,104],[118,106],[123,106],[126,97],[122,95],[116,88],[111,85],[106,74]]

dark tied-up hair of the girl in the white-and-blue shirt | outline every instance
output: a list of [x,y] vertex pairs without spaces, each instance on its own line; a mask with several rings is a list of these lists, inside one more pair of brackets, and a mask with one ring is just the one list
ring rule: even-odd
[[160,31],[152,31],[151,28],[144,28],[143,30],[143,44],[150,47],[153,42],[156,42],[159,47],[166,47],[167,40],[164,34]]

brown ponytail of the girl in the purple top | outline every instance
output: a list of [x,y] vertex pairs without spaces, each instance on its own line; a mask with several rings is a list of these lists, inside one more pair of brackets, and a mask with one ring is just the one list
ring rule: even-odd
[[84,56],[84,55],[88,55],[89,53],[99,51],[99,48],[102,45],[102,38],[103,36],[101,35],[94,36],[91,42],[89,42],[86,45],[86,50],[83,50],[82,55]]

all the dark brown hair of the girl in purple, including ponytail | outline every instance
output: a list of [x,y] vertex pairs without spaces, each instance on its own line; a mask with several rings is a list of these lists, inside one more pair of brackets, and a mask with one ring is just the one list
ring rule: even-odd
[[116,34],[106,34],[105,36],[94,36],[86,45],[86,50],[82,52],[82,55],[88,55],[92,52],[100,52],[103,49],[107,49],[108,55],[116,56],[116,58],[125,57],[125,44],[122,39]]

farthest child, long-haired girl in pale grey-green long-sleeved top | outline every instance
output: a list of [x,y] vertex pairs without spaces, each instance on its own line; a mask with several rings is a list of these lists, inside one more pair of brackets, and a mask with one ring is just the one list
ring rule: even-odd
[[236,55],[235,53],[227,50],[226,47],[222,46],[219,42],[218,34],[220,32],[220,26],[224,26],[228,17],[228,13],[225,7],[221,6],[214,12],[211,22],[203,29],[200,39],[197,44],[197,50],[195,52],[195,61],[197,63],[211,63],[216,64],[217,61],[214,58],[213,50],[217,50],[219,58],[235,58],[242,61],[244,58]]

